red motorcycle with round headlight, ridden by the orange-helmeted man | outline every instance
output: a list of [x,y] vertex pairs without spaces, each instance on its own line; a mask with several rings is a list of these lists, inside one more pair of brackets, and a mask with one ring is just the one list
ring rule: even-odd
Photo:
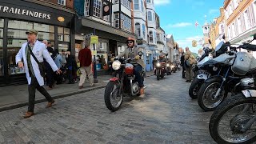
[[[142,52],[138,53],[142,56]],[[116,76],[110,79],[106,85],[104,99],[106,107],[111,111],[116,111],[122,106],[124,96],[135,97],[140,95],[138,82],[135,81],[134,66],[138,63],[134,59],[115,59],[112,67],[115,70]],[[141,72],[142,80],[144,81],[143,71]],[[146,88],[146,86],[144,86]]]

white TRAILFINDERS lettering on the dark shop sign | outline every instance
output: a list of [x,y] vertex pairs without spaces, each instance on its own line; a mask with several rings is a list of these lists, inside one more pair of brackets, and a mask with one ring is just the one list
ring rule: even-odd
[[39,13],[37,11],[19,9],[9,6],[0,6],[0,13],[10,13],[10,14],[19,14],[19,15],[26,15],[29,17],[34,18],[43,18],[50,20],[50,14]]

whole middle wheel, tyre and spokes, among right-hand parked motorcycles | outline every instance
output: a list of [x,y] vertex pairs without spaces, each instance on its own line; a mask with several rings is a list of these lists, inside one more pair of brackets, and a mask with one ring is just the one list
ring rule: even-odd
[[204,82],[198,91],[198,105],[205,111],[213,111],[225,98],[225,91],[221,90],[217,98],[214,98],[221,82]]

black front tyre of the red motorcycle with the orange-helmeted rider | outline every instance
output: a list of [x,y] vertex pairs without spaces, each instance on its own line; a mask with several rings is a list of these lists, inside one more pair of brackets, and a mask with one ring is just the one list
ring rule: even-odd
[[[117,90],[119,89],[118,86],[120,84],[115,81],[115,82],[109,82],[107,85],[106,85],[106,89],[105,89],[105,94],[104,94],[104,100],[105,100],[105,104],[106,104],[106,107],[111,110],[112,112],[116,111],[116,110],[119,110],[120,107],[122,106],[122,101],[123,101],[123,95],[120,96],[120,100],[118,102],[118,106],[113,106],[112,103],[111,103],[111,97],[113,94],[113,89],[114,89],[114,86],[117,86]],[[120,89],[119,89],[120,90]],[[118,93],[118,91],[116,91],[115,93]]]

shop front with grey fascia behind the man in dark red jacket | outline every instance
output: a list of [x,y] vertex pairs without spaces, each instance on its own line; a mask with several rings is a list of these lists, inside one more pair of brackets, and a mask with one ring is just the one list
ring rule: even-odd
[[[97,62],[96,68],[99,74],[106,74],[105,72],[108,70],[107,63],[110,61],[110,58],[122,53],[126,48],[126,39],[134,37],[134,34],[101,22],[95,22],[89,18],[76,18],[75,23],[76,35],[82,35],[85,38],[86,35],[94,34],[95,32],[95,35],[98,36],[98,44],[95,45],[95,57]],[[76,42],[76,45],[83,47],[82,41],[76,39]],[[91,45],[90,49],[93,51],[94,46]]]

